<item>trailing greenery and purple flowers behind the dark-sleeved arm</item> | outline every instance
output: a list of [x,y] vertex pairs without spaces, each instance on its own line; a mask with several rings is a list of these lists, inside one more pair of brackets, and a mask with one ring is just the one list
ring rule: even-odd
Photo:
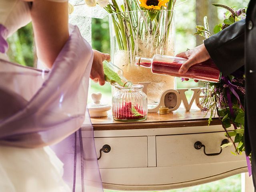
[[[195,34],[209,38],[246,17],[245,9],[234,10],[223,4],[212,4],[227,10],[224,13],[224,21],[214,27],[213,33],[209,30],[207,17],[204,17],[204,26],[196,26]],[[222,145],[222,148],[233,145],[235,152],[233,154],[242,154],[244,148],[244,96],[245,96],[245,76],[242,69],[237,70],[229,76],[222,76],[220,83],[204,84],[204,97],[200,101],[204,111],[210,112],[209,124],[212,117],[217,113],[222,122],[222,127],[229,139],[228,144]],[[231,125],[233,131],[227,131]],[[234,137],[234,140],[232,139]]]

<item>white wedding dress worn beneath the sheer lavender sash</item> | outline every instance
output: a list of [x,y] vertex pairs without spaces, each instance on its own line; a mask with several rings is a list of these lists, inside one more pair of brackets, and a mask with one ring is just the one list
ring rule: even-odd
[[[28,2],[0,0],[0,24],[7,28],[8,36],[28,22]],[[7,59],[7,56],[0,52],[0,58]],[[50,147],[0,146],[0,192],[70,192],[62,175],[63,163]]]

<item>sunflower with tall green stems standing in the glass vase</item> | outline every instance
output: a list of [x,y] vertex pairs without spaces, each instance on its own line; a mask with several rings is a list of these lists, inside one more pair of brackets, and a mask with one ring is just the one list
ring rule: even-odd
[[172,24],[176,0],[116,0],[105,7],[112,24],[119,50],[127,51],[130,62],[142,52],[163,52]]

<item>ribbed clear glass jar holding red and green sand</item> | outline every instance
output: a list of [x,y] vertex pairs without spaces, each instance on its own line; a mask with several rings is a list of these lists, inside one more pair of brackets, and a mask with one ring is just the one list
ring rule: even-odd
[[115,86],[112,97],[112,114],[117,121],[145,120],[148,114],[147,96],[142,92],[143,85],[132,88]]

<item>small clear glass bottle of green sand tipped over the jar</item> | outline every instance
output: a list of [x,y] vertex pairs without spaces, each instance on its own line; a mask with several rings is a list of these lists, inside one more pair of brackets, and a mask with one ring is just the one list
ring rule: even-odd
[[131,88],[133,86],[132,82],[128,81],[124,77],[124,72],[112,64],[112,62],[103,62],[103,69],[105,74],[105,80],[112,86],[120,85],[122,87]]

